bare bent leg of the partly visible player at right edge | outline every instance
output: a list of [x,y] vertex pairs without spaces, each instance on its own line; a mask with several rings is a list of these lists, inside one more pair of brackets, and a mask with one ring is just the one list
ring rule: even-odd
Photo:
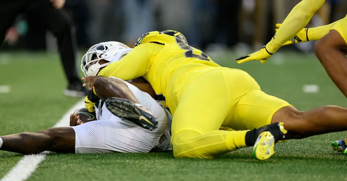
[[[344,21],[347,23],[346,20]],[[339,24],[337,25],[339,26]],[[347,44],[345,35],[347,35],[346,28],[333,28],[315,44],[314,52],[331,80],[347,97]]]

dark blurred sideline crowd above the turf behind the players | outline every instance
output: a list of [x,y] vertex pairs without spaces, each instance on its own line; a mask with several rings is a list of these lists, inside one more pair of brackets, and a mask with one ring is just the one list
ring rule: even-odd
[[[264,3],[266,1],[266,3]],[[74,21],[79,49],[102,41],[133,47],[142,34],[174,29],[193,47],[203,50],[259,49],[300,0],[66,0],[64,10]],[[259,3],[262,2],[262,3]],[[346,15],[347,1],[327,0],[308,27]],[[287,46],[311,51],[314,42]],[[2,50],[57,50],[54,36],[34,19],[18,16]]]

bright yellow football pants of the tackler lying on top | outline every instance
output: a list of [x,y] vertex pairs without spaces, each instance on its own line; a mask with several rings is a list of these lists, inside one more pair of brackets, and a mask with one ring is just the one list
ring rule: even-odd
[[[186,80],[190,75],[196,72],[187,73]],[[214,158],[245,147],[248,130],[270,124],[278,109],[290,105],[262,92],[238,69],[216,68],[172,88],[167,99],[174,112],[171,143],[176,158]],[[219,130],[221,126],[244,131]]]

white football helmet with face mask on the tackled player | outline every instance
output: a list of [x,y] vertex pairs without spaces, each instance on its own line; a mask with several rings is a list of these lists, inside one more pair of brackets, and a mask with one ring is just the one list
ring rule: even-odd
[[[129,48],[127,45],[117,41],[101,42],[100,44],[93,45],[82,57],[81,69],[85,76],[96,76],[100,68],[109,65],[115,55],[122,53],[121,49]],[[100,65],[100,60],[108,61]]]

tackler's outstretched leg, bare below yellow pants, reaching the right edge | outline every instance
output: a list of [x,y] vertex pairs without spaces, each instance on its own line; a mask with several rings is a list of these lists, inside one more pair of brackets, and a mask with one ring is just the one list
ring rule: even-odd
[[232,116],[235,121],[229,126],[236,130],[283,122],[288,131],[285,139],[347,130],[347,108],[322,106],[298,111],[286,101],[267,95],[256,87],[240,99]]

